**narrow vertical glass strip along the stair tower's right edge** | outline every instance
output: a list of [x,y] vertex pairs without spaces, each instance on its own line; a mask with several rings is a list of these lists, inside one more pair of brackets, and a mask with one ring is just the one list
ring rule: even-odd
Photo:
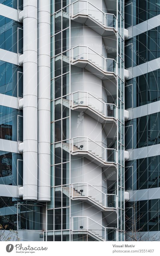
[[123,29],[124,29],[124,2],[118,0],[118,134],[117,134],[117,149],[118,149],[118,229],[119,241],[124,241],[125,230],[125,203],[124,203],[124,40],[123,40]]

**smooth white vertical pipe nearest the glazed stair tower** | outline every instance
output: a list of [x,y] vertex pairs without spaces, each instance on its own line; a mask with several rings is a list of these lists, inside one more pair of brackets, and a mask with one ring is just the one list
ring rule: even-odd
[[38,1],[38,201],[50,201],[50,0]]

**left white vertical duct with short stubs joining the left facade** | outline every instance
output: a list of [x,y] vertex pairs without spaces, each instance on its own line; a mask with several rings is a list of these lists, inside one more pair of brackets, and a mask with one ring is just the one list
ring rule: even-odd
[[19,64],[23,65],[23,143],[19,151],[23,153],[23,187],[19,196],[23,200],[37,200],[38,178],[38,67],[37,67],[37,0],[24,0],[23,11],[19,14],[23,22],[23,55]]

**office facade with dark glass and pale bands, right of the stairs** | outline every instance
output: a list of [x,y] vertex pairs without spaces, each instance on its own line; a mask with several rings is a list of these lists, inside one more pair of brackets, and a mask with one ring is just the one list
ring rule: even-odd
[[159,1],[125,1],[126,232],[159,240]]

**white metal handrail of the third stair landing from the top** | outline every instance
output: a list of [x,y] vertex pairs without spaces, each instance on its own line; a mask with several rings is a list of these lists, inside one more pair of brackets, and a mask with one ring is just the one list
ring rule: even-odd
[[[87,104],[77,104],[77,105],[74,105],[74,104],[73,104],[73,95],[74,95],[75,93],[86,93],[86,94],[87,94],[87,99],[86,99]],[[106,115],[106,106],[107,106],[107,105],[115,106],[115,108],[117,109],[117,106],[116,106],[114,103],[105,103],[105,102],[99,100],[98,98],[96,98],[95,96],[93,96],[91,93],[86,92],[86,91],[76,91],[76,92],[74,92],[74,93],[71,93],[71,101],[72,101],[72,105],[71,105],[71,106],[72,106],[72,107],[78,106],[78,105],[88,106],[88,98],[89,98],[88,95],[90,95],[90,96],[92,96],[92,98],[95,98],[96,100],[98,100],[101,104],[104,104],[104,114],[101,114],[101,115],[104,115],[105,117],[108,117],[108,115]],[[90,107],[90,108],[92,108],[92,107]],[[95,109],[94,109],[94,111],[95,111],[95,112],[98,112],[98,111],[95,110]],[[99,113],[99,112],[98,112],[98,113]],[[109,116],[109,117],[112,117],[112,116]],[[116,113],[115,113],[115,117],[113,116],[113,118],[116,119]]]

